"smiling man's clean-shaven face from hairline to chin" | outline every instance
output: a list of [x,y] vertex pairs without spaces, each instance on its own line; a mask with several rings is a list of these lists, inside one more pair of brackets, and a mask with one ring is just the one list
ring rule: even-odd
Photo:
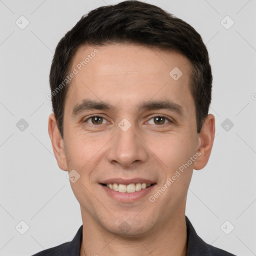
[[83,219],[119,235],[155,232],[184,214],[192,170],[208,157],[197,152],[190,62],[130,44],[96,49],[82,46],[72,60],[55,155],[79,177],[70,184]]

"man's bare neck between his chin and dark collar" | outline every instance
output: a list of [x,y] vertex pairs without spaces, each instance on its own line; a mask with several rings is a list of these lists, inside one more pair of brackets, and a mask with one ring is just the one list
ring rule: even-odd
[[184,214],[176,214],[167,223],[143,236],[125,237],[103,229],[82,211],[82,244],[80,255],[94,256],[185,256],[186,223]]

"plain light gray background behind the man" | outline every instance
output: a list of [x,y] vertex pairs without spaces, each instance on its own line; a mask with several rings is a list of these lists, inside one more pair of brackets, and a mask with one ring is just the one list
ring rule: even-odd
[[[31,255],[69,241],[81,225],[48,136],[48,74],[64,33],[88,10],[117,2],[0,0],[0,255]],[[194,171],[186,215],[207,243],[256,255],[256,0],[146,2],[191,24],[212,66],[216,137],[208,164]],[[29,21],[24,29],[15,23],[25,24],[21,15]],[[16,126],[21,118],[28,123],[23,131]],[[21,220],[29,226],[24,234],[15,228]]]

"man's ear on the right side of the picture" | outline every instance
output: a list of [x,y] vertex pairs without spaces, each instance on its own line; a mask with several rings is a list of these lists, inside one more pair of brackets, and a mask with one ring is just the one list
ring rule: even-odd
[[194,169],[202,169],[208,162],[211,148],[215,135],[215,118],[213,114],[208,114],[205,117],[201,131],[199,133],[199,147],[197,151],[201,154],[194,162]]

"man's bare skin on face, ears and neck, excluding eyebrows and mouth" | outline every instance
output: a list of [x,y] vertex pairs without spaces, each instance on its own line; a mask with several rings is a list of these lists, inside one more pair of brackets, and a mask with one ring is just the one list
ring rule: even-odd
[[[174,51],[149,49],[133,44],[97,46],[98,53],[71,80],[64,104],[64,136],[54,114],[48,132],[58,166],[75,169],[80,178],[70,182],[80,203],[83,239],[80,255],[185,255],[186,194],[193,169],[203,168],[213,144],[214,116],[208,114],[201,132],[196,132],[195,105],[189,90],[191,66]],[[72,60],[72,70],[94,50],[81,46]],[[174,67],[182,76],[174,80]],[[108,101],[116,108],[86,110],[72,116],[82,100]],[[180,115],[168,109],[139,109],[143,100],[169,99],[183,109]],[[87,119],[103,117],[101,124]],[[153,117],[168,119],[158,124]],[[126,118],[127,131],[118,123]],[[154,202],[154,195],[189,157],[200,152],[187,169]],[[133,201],[119,202],[102,189],[107,178],[141,177],[156,185]],[[119,228],[126,221],[129,230]],[[151,254],[152,253],[152,254]]]

